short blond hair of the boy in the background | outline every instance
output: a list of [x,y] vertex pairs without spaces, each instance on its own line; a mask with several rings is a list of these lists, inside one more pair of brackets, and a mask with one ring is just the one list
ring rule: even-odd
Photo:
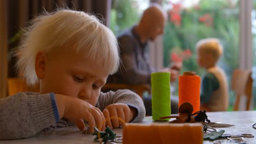
[[214,62],[217,63],[220,56],[222,56],[223,46],[217,38],[206,38],[201,39],[196,43],[196,50],[211,53],[213,55]]

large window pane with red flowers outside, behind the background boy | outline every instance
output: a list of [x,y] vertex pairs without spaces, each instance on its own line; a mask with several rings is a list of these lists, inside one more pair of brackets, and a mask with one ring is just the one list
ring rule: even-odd
[[[193,55],[183,61],[182,70],[194,70],[202,75],[203,70],[196,63],[195,44],[203,38],[219,38],[224,52],[218,64],[224,69],[230,84],[232,70],[238,67],[239,62],[238,4],[237,1],[226,0],[166,1],[163,5],[168,14],[164,34],[164,65],[170,64],[173,55],[189,50]],[[229,94],[230,105],[233,105],[234,94],[231,91]]]

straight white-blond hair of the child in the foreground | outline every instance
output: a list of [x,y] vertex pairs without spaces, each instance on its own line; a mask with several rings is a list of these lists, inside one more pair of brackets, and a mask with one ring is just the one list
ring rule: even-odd
[[102,64],[102,69],[109,74],[118,70],[119,49],[113,32],[95,16],[67,9],[45,12],[32,21],[16,52],[16,67],[27,83],[34,85],[38,81],[35,71],[37,53],[61,51],[64,47],[76,49],[88,61]]

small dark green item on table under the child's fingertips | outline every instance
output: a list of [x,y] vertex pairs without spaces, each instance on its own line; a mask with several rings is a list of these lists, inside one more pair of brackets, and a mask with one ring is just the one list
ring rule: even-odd
[[96,135],[94,140],[103,139],[104,144],[108,142],[108,140],[114,140],[115,134],[109,127],[105,129],[105,131],[100,131],[96,127],[94,128],[95,132],[92,135]]

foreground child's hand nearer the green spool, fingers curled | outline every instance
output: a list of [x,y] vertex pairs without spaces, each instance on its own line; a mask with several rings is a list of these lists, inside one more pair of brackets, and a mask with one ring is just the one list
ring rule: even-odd
[[103,110],[106,126],[110,128],[118,128],[123,126],[124,122],[130,122],[133,118],[133,113],[135,113],[135,110],[133,111],[126,104],[111,104]]

